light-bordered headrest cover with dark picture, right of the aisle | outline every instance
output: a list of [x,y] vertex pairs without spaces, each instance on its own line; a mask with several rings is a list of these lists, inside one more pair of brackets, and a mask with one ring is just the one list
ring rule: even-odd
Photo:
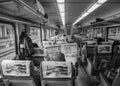
[[98,45],[98,53],[111,53],[111,45]]

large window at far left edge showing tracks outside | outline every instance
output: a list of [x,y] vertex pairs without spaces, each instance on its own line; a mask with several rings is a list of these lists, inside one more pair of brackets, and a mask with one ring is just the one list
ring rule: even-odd
[[15,56],[15,37],[12,25],[0,24],[0,62]]

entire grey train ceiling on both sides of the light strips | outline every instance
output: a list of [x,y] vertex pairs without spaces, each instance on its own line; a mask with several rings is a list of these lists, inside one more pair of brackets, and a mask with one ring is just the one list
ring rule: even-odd
[[[38,17],[34,17],[30,12],[26,11],[23,7],[13,2],[14,0],[0,0],[0,12],[5,12],[10,15],[27,18],[32,21],[39,22]],[[35,0],[24,0],[28,5],[34,7]],[[43,5],[48,18],[56,25],[62,25],[61,17],[56,0],[39,0]],[[65,0],[65,23],[71,25],[74,21],[94,2],[97,0]],[[108,0],[101,7],[85,17],[77,25],[88,25],[90,22],[95,21],[96,18],[109,18],[114,14],[120,12],[120,0]]]

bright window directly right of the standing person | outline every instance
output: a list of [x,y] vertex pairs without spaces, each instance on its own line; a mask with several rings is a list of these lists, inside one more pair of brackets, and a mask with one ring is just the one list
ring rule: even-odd
[[33,43],[41,45],[40,28],[30,27],[30,37]]

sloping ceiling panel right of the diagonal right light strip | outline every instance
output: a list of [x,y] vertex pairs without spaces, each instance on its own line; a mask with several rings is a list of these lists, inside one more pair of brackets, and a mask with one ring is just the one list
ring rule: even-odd
[[103,4],[101,7],[96,9],[90,15],[85,17],[80,23],[90,24],[90,22],[95,21],[96,18],[107,19],[112,15],[120,14],[120,2],[118,0],[110,0],[109,2]]

